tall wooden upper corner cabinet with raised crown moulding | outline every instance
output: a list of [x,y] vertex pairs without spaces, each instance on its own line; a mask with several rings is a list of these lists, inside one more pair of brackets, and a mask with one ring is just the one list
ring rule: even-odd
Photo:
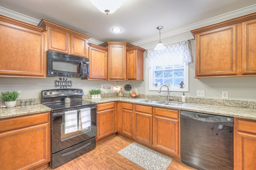
[[105,42],[108,48],[108,80],[126,80],[126,49],[134,47],[127,42]]

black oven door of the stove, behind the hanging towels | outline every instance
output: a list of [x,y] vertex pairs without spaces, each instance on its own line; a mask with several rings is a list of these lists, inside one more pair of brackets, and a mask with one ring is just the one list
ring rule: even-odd
[[[73,109],[78,111],[78,116],[80,114],[80,109],[86,107],[81,107],[79,109]],[[91,108],[91,126],[76,132],[71,132],[65,134],[65,112],[60,111],[52,113],[52,154],[64,150],[70,146],[84,142],[90,138],[96,136],[96,106]],[[72,111],[72,110],[69,110]]]

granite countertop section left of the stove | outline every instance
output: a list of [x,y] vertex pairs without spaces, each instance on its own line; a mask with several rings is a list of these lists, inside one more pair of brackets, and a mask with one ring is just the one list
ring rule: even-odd
[[51,109],[42,104],[30,106],[15,106],[12,108],[0,108],[0,119],[22,115],[30,115],[33,113],[41,113],[46,111],[51,111]]

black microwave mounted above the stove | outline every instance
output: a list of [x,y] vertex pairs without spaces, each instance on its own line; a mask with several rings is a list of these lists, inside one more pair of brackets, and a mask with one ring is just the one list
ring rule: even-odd
[[47,51],[47,76],[86,78],[89,76],[89,59]]

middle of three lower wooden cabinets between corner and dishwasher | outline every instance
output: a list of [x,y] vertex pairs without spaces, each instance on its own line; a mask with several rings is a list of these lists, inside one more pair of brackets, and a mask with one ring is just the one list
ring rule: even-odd
[[135,105],[134,123],[135,140],[146,144],[153,144],[153,115],[152,107]]

